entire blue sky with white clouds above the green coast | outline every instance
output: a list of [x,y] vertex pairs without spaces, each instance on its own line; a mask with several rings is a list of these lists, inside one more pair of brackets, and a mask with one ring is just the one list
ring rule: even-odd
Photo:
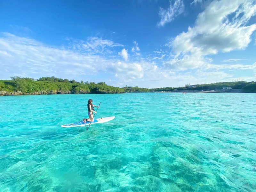
[[1,1],[0,79],[256,81],[255,0]]

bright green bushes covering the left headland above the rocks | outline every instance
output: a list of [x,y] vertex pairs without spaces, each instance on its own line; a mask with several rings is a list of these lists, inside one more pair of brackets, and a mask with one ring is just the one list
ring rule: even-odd
[[0,91],[7,92],[81,92],[81,93],[124,93],[124,89],[108,86],[105,82],[76,82],[57,77],[32,78],[11,77],[12,80],[0,80]]

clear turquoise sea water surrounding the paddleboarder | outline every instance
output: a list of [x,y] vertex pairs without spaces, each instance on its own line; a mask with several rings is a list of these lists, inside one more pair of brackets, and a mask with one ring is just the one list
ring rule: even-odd
[[[110,122],[62,128],[87,117]],[[256,94],[0,97],[0,191],[256,191]]]

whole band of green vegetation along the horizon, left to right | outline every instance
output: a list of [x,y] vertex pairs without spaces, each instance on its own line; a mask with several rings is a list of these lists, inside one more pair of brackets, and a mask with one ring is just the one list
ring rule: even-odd
[[172,92],[182,90],[220,90],[223,87],[231,87],[232,89],[243,89],[244,92],[256,92],[256,82],[219,82],[213,84],[198,84],[196,87],[190,87],[186,84],[184,87],[164,87],[164,88],[140,88],[136,87],[112,87],[105,82],[77,82],[74,79],[61,79],[57,77],[40,77],[35,80],[32,78],[21,78],[12,76],[12,80],[0,80],[0,91],[6,92],[51,92],[57,94],[66,93],[124,93],[124,92]]

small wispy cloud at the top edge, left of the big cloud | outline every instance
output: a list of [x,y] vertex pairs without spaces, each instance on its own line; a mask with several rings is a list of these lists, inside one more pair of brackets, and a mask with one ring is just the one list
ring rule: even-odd
[[183,0],[170,0],[170,6],[167,10],[163,9],[162,7],[159,8],[158,15],[161,17],[161,20],[157,23],[157,26],[164,26],[166,23],[171,22],[175,17],[183,12]]

